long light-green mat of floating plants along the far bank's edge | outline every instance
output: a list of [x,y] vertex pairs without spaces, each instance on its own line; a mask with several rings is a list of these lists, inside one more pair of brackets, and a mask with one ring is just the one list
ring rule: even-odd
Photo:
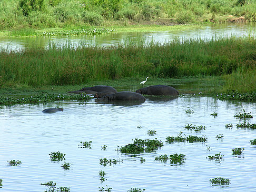
[[74,36],[74,35],[102,35],[115,32],[115,29],[105,28],[88,28],[88,29],[72,29],[62,31],[38,32],[39,36]]

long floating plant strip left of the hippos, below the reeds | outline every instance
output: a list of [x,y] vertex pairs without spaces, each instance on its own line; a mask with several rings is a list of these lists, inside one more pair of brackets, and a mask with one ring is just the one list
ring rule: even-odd
[[22,98],[0,96],[0,105],[53,103],[60,100],[87,101],[88,99],[91,99],[91,97],[83,94],[81,95],[79,94],[77,95],[41,94],[41,95],[36,95],[31,97],[22,97]]

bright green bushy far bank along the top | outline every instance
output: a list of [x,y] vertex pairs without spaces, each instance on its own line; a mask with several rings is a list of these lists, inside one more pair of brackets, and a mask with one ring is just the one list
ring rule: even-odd
[[0,30],[255,22],[254,0],[2,0]]

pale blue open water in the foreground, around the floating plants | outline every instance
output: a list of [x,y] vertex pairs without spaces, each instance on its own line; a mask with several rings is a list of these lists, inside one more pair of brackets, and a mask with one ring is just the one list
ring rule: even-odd
[[[54,107],[63,112],[44,114],[42,110]],[[186,114],[191,109],[193,114]],[[60,102],[40,105],[4,106],[0,109],[0,191],[45,191],[41,183],[56,182],[57,187],[71,191],[127,191],[133,187],[146,191],[256,191],[256,147],[250,140],[256,130],[237,129],[241,121],[234,117],[252,112],[249,123],[256,123],[256,104],[223,102],[209,97],[179,97],[159,100],[147,98],[140,105]],[[218,116],[212,117],[212,113]],[[233,124],[232,129],[225,124]],[[194,133],[185,125],[203,125],[206,130]],[[137,126],[141,128],[137,128]],[[156,130],[155,136],[147,135]],[[165,143],[165,137],[205,135],[206,143]],[[223,134],[223,140],[215,137]],[[132,139],[162,140],[164,146],[155,153],[132,157],[115,149],[132,143]],[[92,141],[92,148],[80,148],[80,142]],[[102,150],[106,145],[107,150]],[[210,151],[207,148],[210,146]],[[244,148],[243,155],[232,155],[233,148]],[[64,161],[50,160],[51,152],[66,154],[65,162],[71,170],[64,170]],[[220,163],[206,157],[220,153]],[[184,154],[185,164],[171,165],[155,161],[167,154]],[[145,158],[141,164],[140,157]],[[116,165],[100,165],[100,158],[121,159]],[[21,160],[21,166],[9,166],[8,160]],[[106,173],[101,184],[99,171]],[[223,177],[231,180],[227,186],[211,185],[209,179]]]

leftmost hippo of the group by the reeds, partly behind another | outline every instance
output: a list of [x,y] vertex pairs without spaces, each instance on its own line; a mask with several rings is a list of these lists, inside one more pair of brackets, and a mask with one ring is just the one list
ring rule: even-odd
[[86,93],[86,94],[95,94],[98,92],[113,92],[117,93],[117,90],[111,86],[107,85],[97,85],[94,87],[84,87],[80,90],[74,90],[73,92],[68,92],[68,93]]

